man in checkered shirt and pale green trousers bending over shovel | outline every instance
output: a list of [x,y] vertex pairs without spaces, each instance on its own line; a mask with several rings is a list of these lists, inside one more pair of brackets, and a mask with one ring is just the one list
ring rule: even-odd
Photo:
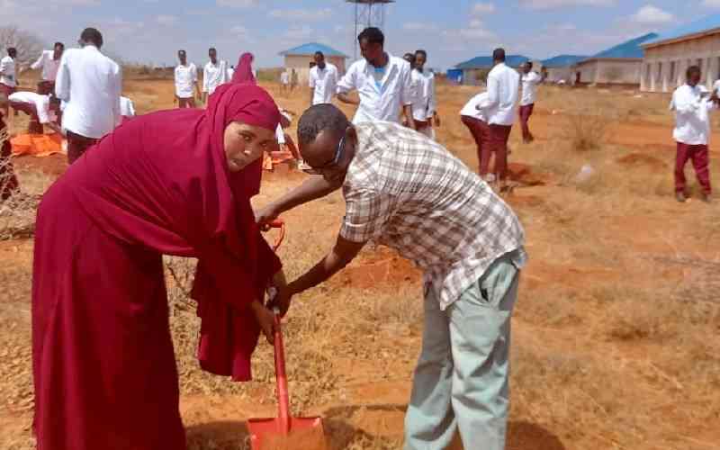
[[510,316],[526,260],[518,217],[446,148],[401,125],[350,124],[331,104],[298,128],[312,176],[259,211],[281,212],[343,189],[338,241],[288,284],[278,306],[328,280],[368,241],[425,270],[425,330],[405,419],[405,448],[441,449],[459,428],[465,448],[501,450],[508,419]]

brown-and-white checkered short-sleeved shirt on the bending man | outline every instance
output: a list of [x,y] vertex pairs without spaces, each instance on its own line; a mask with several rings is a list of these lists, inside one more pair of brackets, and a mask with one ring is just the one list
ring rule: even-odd
[[446,148],[392,122],[356,130],[343,185],[343,238],[372,240],[413,261],[443,310],[498,257],[514,252],[514,264],[525,265],[518,217]]

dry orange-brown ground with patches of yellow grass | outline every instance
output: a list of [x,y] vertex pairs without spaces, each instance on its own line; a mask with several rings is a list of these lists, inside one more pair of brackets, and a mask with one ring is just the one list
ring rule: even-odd
[[[439,140],[471,167],[474,145],[457,114],[473,93],[438,92]],[[128,81],[125,94],[140,113],[172,106],[166,80]],[[302,112],[307,98],[277,100]],[[532,118],[536,142],[522,145],[513,131],[519,186],[508,201],[527,229],[531,262],[513,324],[512,450],[720,448],[720,202],[673,200],[667,102],[543,87]],[[719,156],[712,154],[716,181]],[[16,163],[33,193],[64,168],[62,157]],[[595,175],[580,181],[585,164]],[[257,203],[302,179],[267,176]],[[290,276],[329,249],[342,214],[339,195],[286,214],[281,256]],[[31,448],[31,251],[30,238],[0,242],[4,449]],[[172,262],[181,278],[189,265]],[[422,328],[419,278],[375,248],[294,302],[286,328],[293,409],[322,414],[333,449],[401,448]],[[253,383],[202,374],[193,360],[192,305],[170,284],[190,446],[244,448],[244,419],[274,413],[271,348],[259,347]]]

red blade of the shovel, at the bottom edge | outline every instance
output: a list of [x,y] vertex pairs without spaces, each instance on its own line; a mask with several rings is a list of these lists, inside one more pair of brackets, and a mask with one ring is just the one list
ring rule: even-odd
[[327,450],[320,418],[290,418],[290,432],[280,419],[249,419],[252,450]]

